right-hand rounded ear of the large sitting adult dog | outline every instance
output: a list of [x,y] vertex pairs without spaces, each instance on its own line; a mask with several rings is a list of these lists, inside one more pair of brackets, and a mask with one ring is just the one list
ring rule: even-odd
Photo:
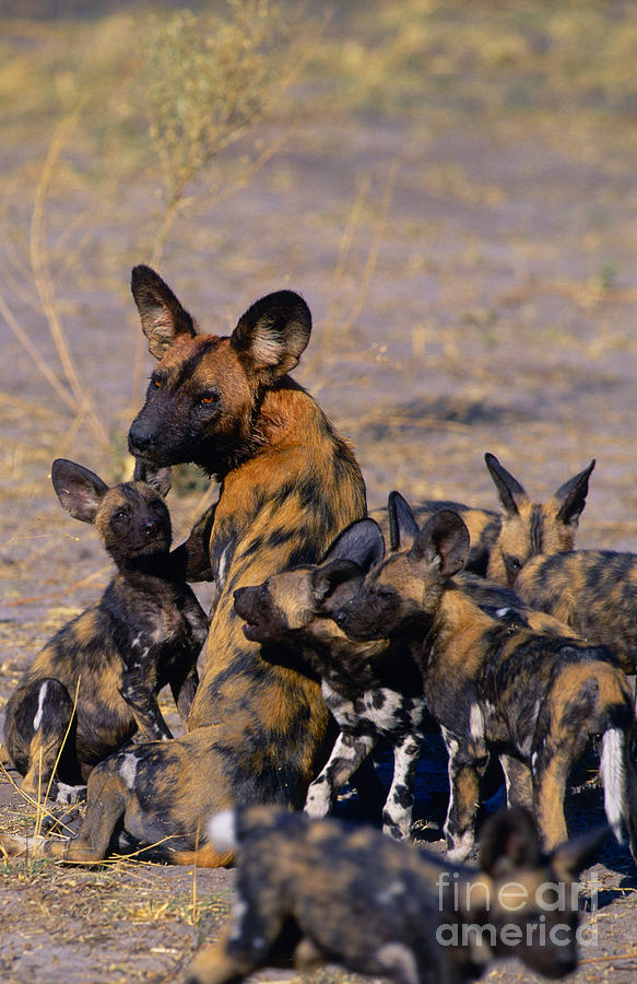
[[303,297],[294,291],[276,291],[241,315],[231,345],[268,385],[298,364],[310,331],[311,315]]

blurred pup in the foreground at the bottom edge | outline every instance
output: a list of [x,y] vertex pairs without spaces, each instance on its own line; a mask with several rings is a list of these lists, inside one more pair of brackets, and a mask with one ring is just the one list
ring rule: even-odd
[[[548,977],[576,968],[575,879],[605,831],[545,855],[530,816],[502,811],[484,825],[480,868],[269,807],[214,817],[210,836],[238,850],[237,901],[187,984],[243,981],[291,960],[299,971],[338,962],[398,984],[463,984],[503,957]],[[543,904],[544,887],[564,904]]]

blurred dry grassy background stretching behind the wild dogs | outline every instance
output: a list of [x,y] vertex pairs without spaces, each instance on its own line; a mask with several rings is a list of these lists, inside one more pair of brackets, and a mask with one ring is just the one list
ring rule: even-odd
[[583,467],[578,366],[612,387],[633,345],[636,65],[632,0],[0,0],[0,466],[34,558],[52,457],[129,473],[140,261],[204,330],[306,294],[297,376],[374,503],[469,472],[488,503],[482,452],[520,443]]

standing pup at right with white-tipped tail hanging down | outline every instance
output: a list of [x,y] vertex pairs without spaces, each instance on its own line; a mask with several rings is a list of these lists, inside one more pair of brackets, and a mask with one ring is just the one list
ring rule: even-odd
[[541,612],[476,605],[453,578],[469,550],[457,513],[437,513],[422,530],[411,516],[401,543],[333,618],[353,639],[411,639],[449,753],[452,856],[473,846],[479,778],[492,750],[509,801],[532,804],[547,847],[565,840],[566,780],[599,737],[606,816],[617,836],[625,822],[637,859],[632,696],[611,653]]

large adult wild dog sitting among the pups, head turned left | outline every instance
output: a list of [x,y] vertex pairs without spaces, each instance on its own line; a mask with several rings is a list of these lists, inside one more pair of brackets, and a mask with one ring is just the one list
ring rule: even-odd
[[178,553],[189,578],[214,581],[217,599],[190,733],[98,765],[79,837],[38,850],[95,860],[116,832],[122,845],[162,842],[156,850],[178,863],[216,866],[229,858],[204,843],[207,818],[235,804],[300,807],[322,764],[329,719],[316,680],[264,660],[245,637],[234,591],[316,561],[365,515],[365,487],[347,445],[287,376],[311,327],[298,294],[262,297],[221,338],[198,335],[149,267],[134,268],[132,292],[158,363],[130,448],[150,471],[194,461],[219,478],[219,501],[198,526],[198,542]]

